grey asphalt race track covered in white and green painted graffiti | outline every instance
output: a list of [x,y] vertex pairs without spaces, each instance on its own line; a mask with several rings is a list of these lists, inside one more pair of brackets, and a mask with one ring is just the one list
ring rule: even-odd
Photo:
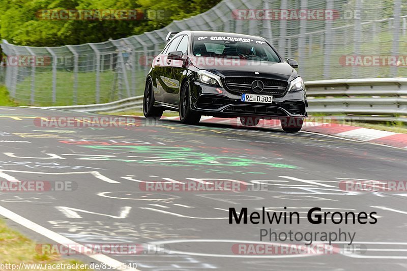
[[[350,192],[346,179],[405,180],[407,150],[318,134],[177,121],[128,128],[47,128],[36,117],[90,115],[0,108],[0,178],[72,181],[75,191],[2,192],[10,212],[80,244],[165,244],[165,253],[108,255],[139,270],[401,270],[407,269],[406,192]],[[205,179],[269,184],[261,191],[143,191],[146,182]],[[300,224],[229,224],[228,209],[301,212]],[[376,224],[310,224],[307,211],[376,212]],[[14,215],[14,217],[16,217]],[[329,218],[329,216],[328,216]],[[38,243],[41,233],[9,219]],[[355,232],[363,253],[236,254],[276,232]],[[40,230],[38,230],[40,229]],[[45,236],[44,236],[45,235]],[[52,236],[51,236],[52,235]],[[268,240],[267,240],[268,241]],[[290,242],[283,242],[289,244]],[[299,242],[294,242],[299,243]],[[343,245],[342,242],[338,246]],[[95,258],[69,255],[87,263]]]

